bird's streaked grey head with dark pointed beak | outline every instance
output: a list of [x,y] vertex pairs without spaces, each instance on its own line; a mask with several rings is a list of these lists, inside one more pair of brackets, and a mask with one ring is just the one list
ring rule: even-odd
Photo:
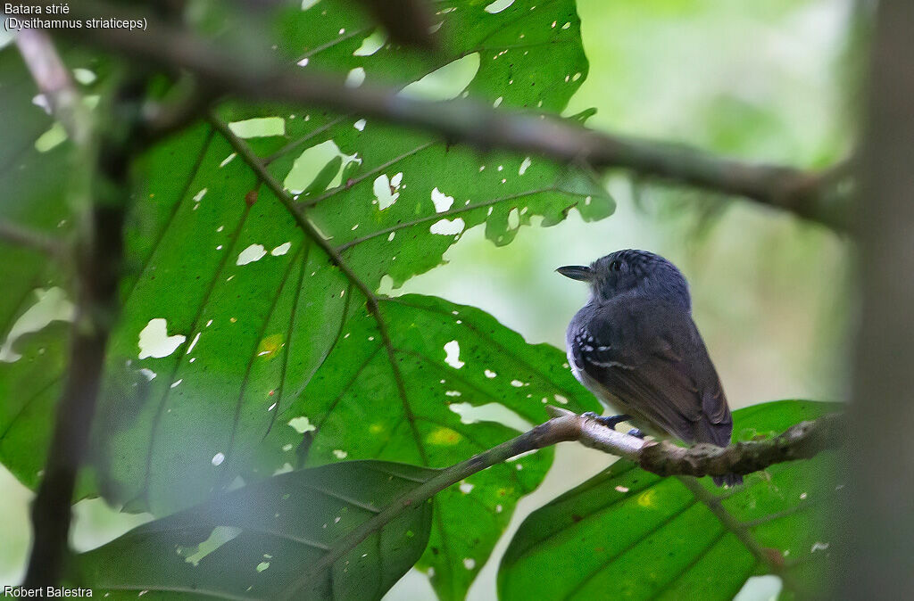
[[646,250],[617,250],[590,266],[569,265],[556,269],[566,278],[586,281],[596,301],[628,294],[635,298],[664,300],[691,311],[688,282],[676,266]]

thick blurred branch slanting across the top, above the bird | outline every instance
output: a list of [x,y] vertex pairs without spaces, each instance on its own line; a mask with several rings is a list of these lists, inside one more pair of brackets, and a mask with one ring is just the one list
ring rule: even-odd
[[[111,15],[110,9],[107,14]],[[66,30],[60,33],[75,35]],[[746,163],[684,145],[592,132],[547,115],[495,110],[473,100],[412,100],[394,88],[368,84],[353,89],[340,78],[286,65],[267,53],[241,53],[216,46],[189,32],[157,25],[152,19],[142,35],[121,29],[92,29],[80,30],[77,39],[167,69],[186,69],[208,90],[240,98],[323,106],[438,132],[449,142],[536,153],[565,163],[583,161],[598,168],[627,169],[646,177],[743,196],[837,230],[848,227],[844,195],[834,194],[834,169],[816,173]]]

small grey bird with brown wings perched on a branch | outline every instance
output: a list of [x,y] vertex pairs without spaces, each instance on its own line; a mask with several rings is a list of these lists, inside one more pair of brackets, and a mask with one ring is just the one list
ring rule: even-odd
[[[628,248],[590,266],[556,269],[590,285],[590,299],[571,319],[566,343],[571,372],[603,405],[622,409],[600,417],[631,434],[667,434],[686,443],[726,447],[733,431],[727,396],[692,320],[682,272],[667,259]],[[742,482],[737,474],[717,486]]]

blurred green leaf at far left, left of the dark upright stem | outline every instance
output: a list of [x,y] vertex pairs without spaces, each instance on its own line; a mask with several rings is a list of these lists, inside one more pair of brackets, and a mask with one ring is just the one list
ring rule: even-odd
[[[65,194],[72,147],[49,146],[57,130],[33,98],[39,98],[35,84],[15,45],[0,50],[0,221],[63,239],[70,231]],[[0,260],[0,461],[35,486],[62,382],[71,295],[61,288],[57,266],[35,249],[0,239]]]

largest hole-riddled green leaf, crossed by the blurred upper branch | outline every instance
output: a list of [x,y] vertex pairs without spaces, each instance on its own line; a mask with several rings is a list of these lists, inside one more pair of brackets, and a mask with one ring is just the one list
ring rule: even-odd
[[[479,66],[461,90],[497,92],[515,106],[542,102],[548,110],[563,107],[586,73],[570,0],[534,10],[512,5],[497,15],[474,3],[439,6],[446,51],[434,58],[384,45],[366,56],[367,22],[348,3],[330,0],[284,13],[277,51],[302,64],[307,58],[303,69],[348,66],[368,79],[421,79],[443,63],[476,57]],[[539,159],[481,155],[426,134],[366,125],[357,115],[236,105],[219,114],[138,165],[143,201],[127,238],[134,269],[124,281],[109,362],[109,382],[118,384],[108,386],[114,393],[101,404],[95,450],[106,494],[132,509],[173,511],[239,474],[281,469],[287,459],[253,458],[262,448],[280,452],[264,437],[274,424],[288,428],[277,416],[314,395],[314,374],[348,320],[375,302],[382,276],[401,281],[440,264],[462,230],[477,224],[506,243],[537,215],[550,224],[572,206],[590,218],[611,209],[587,174]],[[240,137],[259,131],[269,135]],[[329,172],[339,166],[334,178],[327,165]],[[314,179],[325,189],[302,192],[296,205],[294,195],[315,189]],[[375,345],[388,331],[399,334],[385,311],[375,317]],[[346,347],[356,361],[375,345]],[[525,348],[520,341],[518,349]],[[128,374],[117,375],[125,365]],[[122,391],[140,388],[137,381],[142,394],[124,402]],[[571,398],[573,386],[544,395]],[[399,397],[399,388],[389,390]],[[326,394],[342,393],[328,387]],[[366,411],[397,406],[373,398]],[[499,399],[511,406],[525,401],[526,391]],[[455,414],[448,418],[459,423]],[[336,431],[342,437],[352,427]],[[383,437],[391,438],[385,457],[421,462],[414,430]],[[210,459],[218,452],[227,459],[214,470]]]

